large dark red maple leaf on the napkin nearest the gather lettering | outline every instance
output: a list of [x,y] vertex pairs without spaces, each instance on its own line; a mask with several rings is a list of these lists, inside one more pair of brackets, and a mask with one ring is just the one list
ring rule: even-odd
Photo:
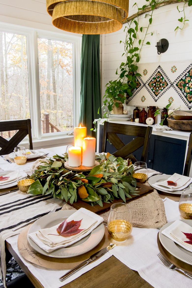
[[78,229],[79,226],[81,225],[81,220],[79,221],[72,220],[70,222],[67,222],[67,220],[63,221],[57,228],[58,234],[64,237],[69,237],[71,235],[78,234],[79,232],[84,230],[84,229]]

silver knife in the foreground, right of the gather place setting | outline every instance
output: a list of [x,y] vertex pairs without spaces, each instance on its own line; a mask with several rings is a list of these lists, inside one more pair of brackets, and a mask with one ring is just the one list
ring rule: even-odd
[[75,268],[71,269],[69,272],[67,272],[66,274],[64,274],[63,276],[61,276],[59,278],[59,280],[62,282],[64,281],[66,278],[68,278],[69,276],[73,275],[75,272],[79,271],[81,268],[85,267],[87,264],[91,263],[92,261],[100,258],[102,255],[104,255],[106,252],[108,252],[109,250],[113,249],[113,247],[115,247],[116,244],[113,245],[109,245],[103,249],[101,249],[100,251],[94,253],[93,255],[91,255],[91,257],[82,262],[81,264],[79,264],[78,266],[76,266]]

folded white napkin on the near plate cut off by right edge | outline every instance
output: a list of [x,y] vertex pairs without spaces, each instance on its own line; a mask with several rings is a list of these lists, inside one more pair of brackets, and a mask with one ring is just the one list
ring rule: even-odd
[[189,241],[184,233],[192,233],[192,227],[183,221],[176,220],[169,227],[162,231],[162,234],[185,248],[186,250],[192,252],[192,245],[185,243],[184,241]]

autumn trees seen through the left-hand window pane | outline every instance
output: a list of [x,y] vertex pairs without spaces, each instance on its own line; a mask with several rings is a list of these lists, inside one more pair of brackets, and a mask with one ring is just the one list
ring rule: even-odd
[[0,31],[0,79],[0,120],[30,118],[26,36]]

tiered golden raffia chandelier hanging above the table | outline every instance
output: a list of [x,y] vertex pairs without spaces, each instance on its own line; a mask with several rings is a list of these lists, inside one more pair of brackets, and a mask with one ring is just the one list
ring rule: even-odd
[[122,27],[129,0],[46,0],[52,24],[79,34],[106,34]]

